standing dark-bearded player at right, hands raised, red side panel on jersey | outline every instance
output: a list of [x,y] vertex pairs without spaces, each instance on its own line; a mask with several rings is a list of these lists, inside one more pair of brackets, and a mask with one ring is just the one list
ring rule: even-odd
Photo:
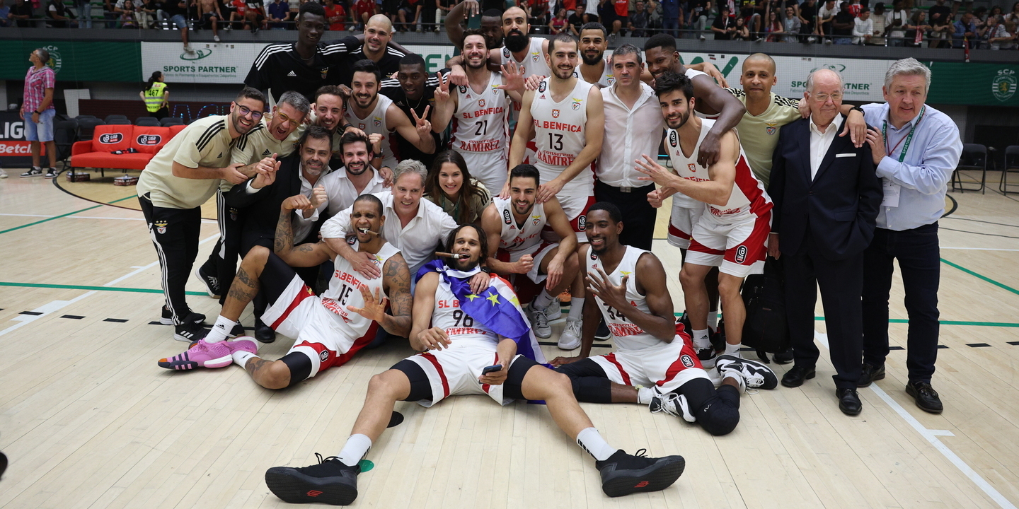
[[[718,267],[718,294],[726,309],[726,354],[739,356],[746,308],[740,295],[743,278],[760,274],[771,228],[771,200],[754,176],[740,148],[736,132],[721,136],[722,152],[707,171],[697,163],[698,149],[715,120],[693,115],[696,99],[693,83],[684,74],[665,72],[655,79],[655,94],[668,126],[665,149],[673,160],[672,173],[647,154],[637,169],[665,187],[706,204],[693,227],[690,249],[680,271],[687,314],[693,328],[694,347],[705,365],[717,355],[708,339],[708,296],[704,278]],[[730,96],[732,97],[732,96]],[[659,189],[659,193],[663,192]]]

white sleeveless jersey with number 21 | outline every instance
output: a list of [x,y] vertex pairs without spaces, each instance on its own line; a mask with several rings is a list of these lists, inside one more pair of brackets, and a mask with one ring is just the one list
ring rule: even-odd
[[[496,89],[502,84],[502,73],[492,72],[481,94],[471,87],[457,87],[457,112],[452,116],[450,147],[459,153],[506,151],[509,130],[506,111],[509,97]],[[472,168],[472,173],[482,172]]]

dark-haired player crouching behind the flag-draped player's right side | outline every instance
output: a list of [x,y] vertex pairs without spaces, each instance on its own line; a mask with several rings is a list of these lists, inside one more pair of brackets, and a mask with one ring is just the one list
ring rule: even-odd
[[[481,227],[488,236],[487,265],[492,272],[507,276],[527,274],[535,284],[545,283],[529,306],[534,335],[548,338],[552,329],[549,305],[564,290],[584,295],[584,280],[578,272],[577,237],[559,201],[552,196],[544,204],[537,202],[541,176],[533,165],[522,164],[509,172],[509,197],[495,197],[481,216]],[[562,240],[549,242],[541,238],[545,228],[551,228]],[[581,312],[583,306],[570,308],[558,347],[573,350],[580,346]]]

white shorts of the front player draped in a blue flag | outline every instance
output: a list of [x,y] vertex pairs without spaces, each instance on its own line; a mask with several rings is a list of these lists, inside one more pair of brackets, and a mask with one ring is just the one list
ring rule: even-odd
[[[515,356],[509,365],[520,357],[523,355]],[[407,360],[420,365],[432,386],[432,400],[418,401],[421,406],[432,406],[449,396],[469,395],[487,395],[500,405],[513,402],[513,398],[502,397],[501,385],[490,386],[478,381],[485,366],[498,362],[494,343],[472,341],[459,348],[454,346],[412,355]],[[508,367],[506,366],[507,370]]]

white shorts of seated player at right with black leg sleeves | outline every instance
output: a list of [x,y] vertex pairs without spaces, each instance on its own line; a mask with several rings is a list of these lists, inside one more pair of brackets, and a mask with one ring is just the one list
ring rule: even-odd
[[663,393],[673,392],[694,379],[711,380],[697,359],[697,352],[679,335],[672,343],[590,358],[616,384],[655,385]]

